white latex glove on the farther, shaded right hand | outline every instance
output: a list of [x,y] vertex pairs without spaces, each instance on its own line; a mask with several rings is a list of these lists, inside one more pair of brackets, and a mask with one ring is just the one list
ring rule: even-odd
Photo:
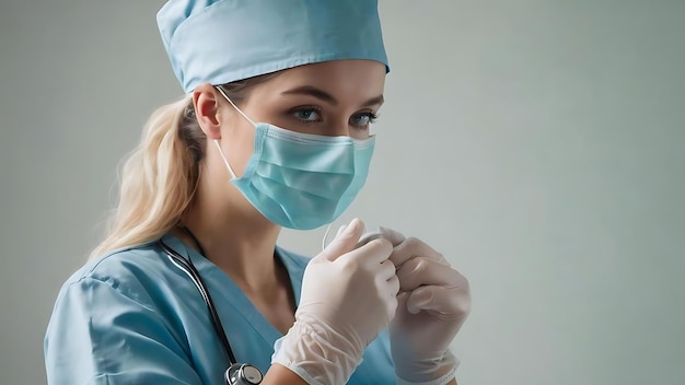
[[394,246],[391,260],[400,285],[390,327],[397,384],[446,384],[458,365],[450,343],[469,312],[468,281],[423,242],[380,232]]

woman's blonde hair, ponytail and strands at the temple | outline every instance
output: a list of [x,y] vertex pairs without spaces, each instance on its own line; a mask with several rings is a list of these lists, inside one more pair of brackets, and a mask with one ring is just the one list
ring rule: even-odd
[[[276,73],[220,86],[241,104],[252,86]],[[190,95],[158,108],[144,126],[140,144],[124,163],[118,207],[90,258],[152,242],[178,225],[195,197],[206,142]]]

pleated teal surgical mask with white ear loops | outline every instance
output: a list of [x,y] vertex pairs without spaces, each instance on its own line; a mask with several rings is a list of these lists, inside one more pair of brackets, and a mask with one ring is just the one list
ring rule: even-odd
[[255,126],[254,153],[241,177],[214,140],[231,183],[255,209],[283,228],[311,230],[335,221],[350,206],[367,180],[374,137],[327,137],[254,122],[218,90]]

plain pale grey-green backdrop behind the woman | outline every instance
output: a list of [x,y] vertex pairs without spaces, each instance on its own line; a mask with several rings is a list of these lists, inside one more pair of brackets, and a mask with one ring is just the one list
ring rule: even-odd
[[[161,4],[0,4],[2,384],[45,383],[57,291],[144,120],[182,94]],[[385,0],[381,15],[386,105],[345,217],[469,278],[460,384],[685,383],[685,1]],[[322,236],[281,244],[314,254]]]

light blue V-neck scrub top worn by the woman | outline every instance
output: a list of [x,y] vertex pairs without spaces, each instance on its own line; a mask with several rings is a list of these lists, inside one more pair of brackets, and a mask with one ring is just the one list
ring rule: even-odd
[[[214,301],[240,362],[266,373],[282,337],[221,269],[167,234]],[[307,258],[276,248],[300,303]],[[227,354],[189,277],[155,243],[86,264],[62,285],[45,337],[48,384],[224,384]],[[364,351],[348,384],[395,384],[387,334]]]

